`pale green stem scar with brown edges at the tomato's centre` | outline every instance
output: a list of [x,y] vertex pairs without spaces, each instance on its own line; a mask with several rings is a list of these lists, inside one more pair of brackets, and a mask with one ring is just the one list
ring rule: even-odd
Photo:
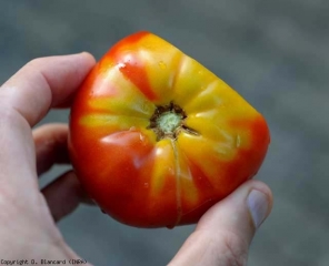
[[182,131],[192,135],[199,135],[196,130],[185,124],[186,119],[186,112],[179,105],[170,102],[168,105],[157,106],[148,129],[151,129],[157,134],[157,141],[166,137],[177,140],[177,136]]

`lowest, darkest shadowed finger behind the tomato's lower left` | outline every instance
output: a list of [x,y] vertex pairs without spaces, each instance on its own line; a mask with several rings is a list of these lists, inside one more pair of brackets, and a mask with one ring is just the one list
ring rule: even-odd
[[56,222],[73,212],[80,202],[90,203],[72,171],[46,186],[42,194]]

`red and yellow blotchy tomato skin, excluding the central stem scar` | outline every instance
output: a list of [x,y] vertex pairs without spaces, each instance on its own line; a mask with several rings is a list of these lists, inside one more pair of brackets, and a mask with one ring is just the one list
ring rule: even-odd
[[[183,126],[159,136],[150,120],[175,103]],[[235,90],[149,33],[112,47],[71,109],[69,151],[101,209],[137,227],[198,222],[259,170],[270,142],[262,115]]]

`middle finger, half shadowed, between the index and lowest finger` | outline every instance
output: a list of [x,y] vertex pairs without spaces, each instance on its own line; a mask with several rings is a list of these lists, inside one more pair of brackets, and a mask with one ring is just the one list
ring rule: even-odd
[[46,124],[33,130],[37,172],[43,174],[56,163],[69,163],[67,124]]

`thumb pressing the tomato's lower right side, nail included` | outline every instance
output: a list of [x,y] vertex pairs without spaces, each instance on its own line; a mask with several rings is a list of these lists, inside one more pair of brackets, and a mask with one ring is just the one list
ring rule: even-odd
[[246,182],[201,217],[169,265],[246,265],[256,229],[271,208],[270,188],[259,181]]

